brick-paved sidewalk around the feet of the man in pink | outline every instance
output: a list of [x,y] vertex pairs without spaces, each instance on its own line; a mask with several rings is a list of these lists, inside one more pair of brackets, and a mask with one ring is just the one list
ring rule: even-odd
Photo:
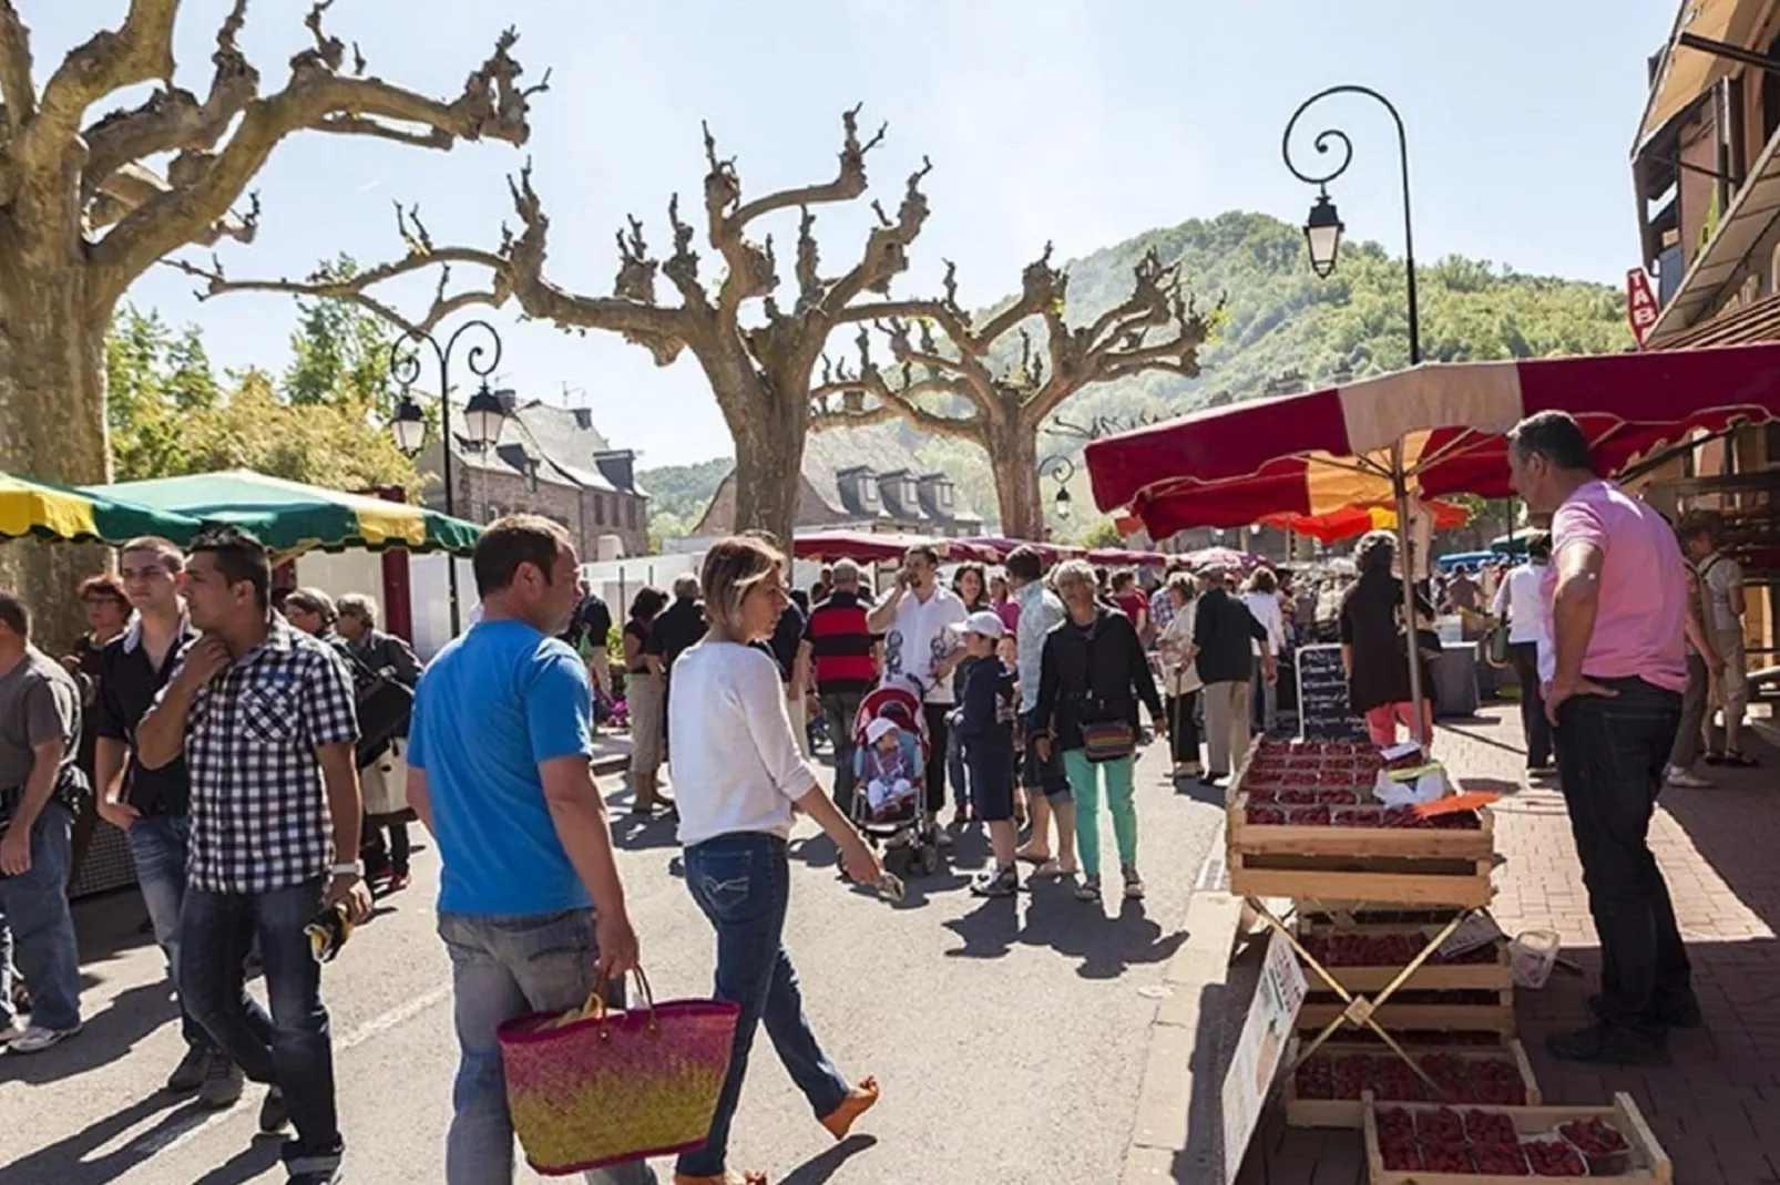
[[[1584,975],[1563,970],[1541,991],[1517,991],[1520,1041],[1552,1103],[1597,1103],[1630,1091],[1686,1185],[1780,1185],[1780,749],[1753,738],[1760,769],[1705,769],[1712,790],[1666,788],[1652,849],[1668,877],[1705,1014],[1702,1032],[1670,1037],[1659,1069],[1582,1068],[1545,1053],[1545,1034],[1584,1023],[1598,970],[1582,872],[1556,781],[1527,785],[1518,710],[1490,706],[1442,724],[1438,756],[1467,788],[1499,790],[1504,865],[1493,913],[1509,934],[1556,931]],[[1274,1114],[1257,1133],[1242,1181],[1363,1181],[1351,1132],[1298,1132]]]

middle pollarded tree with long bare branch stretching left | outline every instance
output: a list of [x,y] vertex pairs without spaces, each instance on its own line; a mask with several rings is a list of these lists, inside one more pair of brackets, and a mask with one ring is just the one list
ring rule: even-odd
[[[618,231],[618,278],[612,295],[580,295],[545,276],[550,219],[532,187],[530,165],[511,180],[520,231],[504,228],[495,251],[434,247],[413,214],[400,215],[406,254],[354,278],[230,279],[219,267],[187,267],[206,279],[201,295],[242,290],[276,290],[306,297],[356,301],[400,327],[431,327],[463,302],[502,304],[509,295],[534,320],[568,331],[603,329],[650,351],[657,365],[671,365],[691,352],[705,372],[723,420],[735,443],[735,528],[769,530],[790,539],[797,507],[803,443],[810,431],[810,383],[822,343],[842,320],[885,302],[870,294],[888,294],[890,281],[908,270],[908,247],[927,221],[927,198],[920,181],[933,167],[927,160],[910,174],[902,201],[892,217],[879,201],[870,208],[876,226],[847,270],[822,272],[815,240],[815,206],[849,203],[865,196],[865,157],[883,142],[881,126],[862,141],[854,107],[842,114],[840,167],[833,180],[783,189],[746,199],[735,158],[719,157],[716,137],[705,126],[705,244],[721,263],[721,276],[707,283],[703,258],[692,247],[698,230],[682,217],[680,196],[668,201],[673,251],[659,258],[644,237],[643,221],[628,217]],[[792,276],[796,294],[780,299],[780,256],[773,235],[751,237],[760,222],[778,212],[797,212]],[[472,263],[493,272],[488,290],[452,292],[441,272],[433,306],[408,318],[377,297],[384,281],[433,265]],[[671,294],[660,292],[660,278]],[[870,315],[870,313],[862,313]]]

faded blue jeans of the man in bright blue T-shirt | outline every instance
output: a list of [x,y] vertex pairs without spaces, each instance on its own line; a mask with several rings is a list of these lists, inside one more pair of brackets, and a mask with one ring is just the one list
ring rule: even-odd
[[[513,1116],[495,1028],[527,1012],[561,1012],[587,1002],[598,979],[593,911],[529,916],[441,913],[440,938],[450,954],[457,1025],[457,1080],[452,1085],[447,1185],[513,1181]],[[607,984],[623,1007],[623,984]],[[650,1185],[643,1162],[587,1173],[591,1185]]]

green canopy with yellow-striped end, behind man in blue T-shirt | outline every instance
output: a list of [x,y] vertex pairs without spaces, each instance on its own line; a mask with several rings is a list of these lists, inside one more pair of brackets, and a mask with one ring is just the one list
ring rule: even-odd
[[408,548],[468,555],[482,534],[475,523],[425,507],[304,486],[253,470],[91,486],[87,493],[240,527],[279,553]]

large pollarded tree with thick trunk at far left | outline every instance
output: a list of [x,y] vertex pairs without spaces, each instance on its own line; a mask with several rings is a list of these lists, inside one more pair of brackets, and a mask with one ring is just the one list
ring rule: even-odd
[[[331,2],[310,9],[313,44],[267,91],[237,43],[247,4],[235,0],[199,96],[174,80],[180,0],[132,0],[117,28],[69,50],[41,87],[30,30],[14,0],[0,0],[0,470],[107,480],[105,331],[117,301],[180,247],[251,240],[258,196],[235,208],[285,137],[525,142],[539,87],[520,85],[511,30],[457,98],[436,100],[368,77],[358,46],[324,30]],[[153,91],[137,107],[89,116],[144,84]],[[0,587],[69,605],[69,582],[96,559],[91,548],[4,546]]]

